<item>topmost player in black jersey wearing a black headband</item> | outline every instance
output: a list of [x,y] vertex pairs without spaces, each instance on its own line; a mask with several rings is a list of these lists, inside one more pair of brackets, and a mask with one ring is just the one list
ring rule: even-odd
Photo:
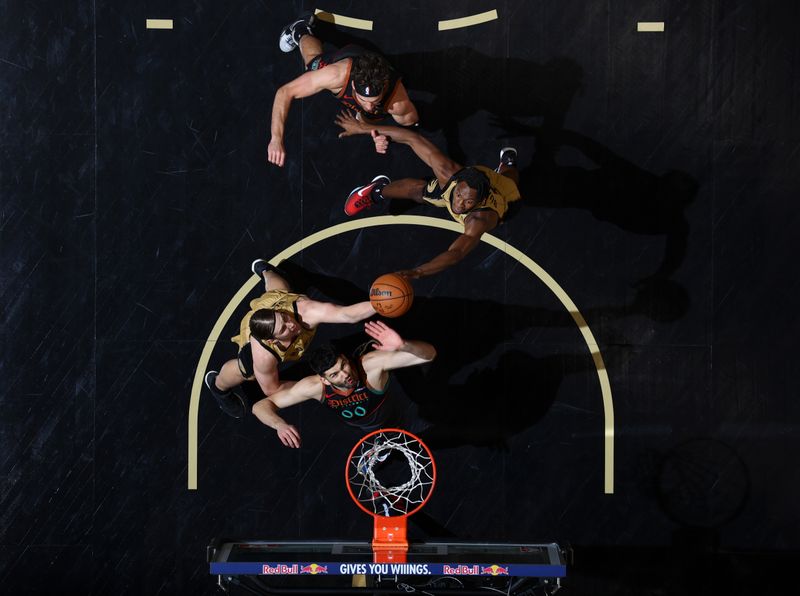
[[312,15],[301,17],[288,25],[280,37],[281,50],[299,48],[306,67],[304,74],[278,89],[272,104],[267,160],[281,167],[286,160],[283,130],[294,99],[327,89],[364,121],[377,121],[388,115],[397,124],[410,126],[419,120],[400,75],[386,58],[356,45],[324,53],[322,42],[311,30],[313,23]]

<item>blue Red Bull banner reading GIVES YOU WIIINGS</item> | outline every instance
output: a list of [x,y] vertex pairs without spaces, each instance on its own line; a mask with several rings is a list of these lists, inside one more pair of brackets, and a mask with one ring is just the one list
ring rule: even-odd
[[566,565],[492,563],[211,563],[212,575],[454,575],[566,577]]

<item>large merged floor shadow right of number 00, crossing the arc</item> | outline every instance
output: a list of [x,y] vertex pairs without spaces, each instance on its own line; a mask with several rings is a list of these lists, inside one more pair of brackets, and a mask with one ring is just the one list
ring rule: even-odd
[[[601,317],[645,316],[670,322],[680,319],[689,304],[680,285],[662,280],[637,289],[626,304],[594,307],[582,314],[589,325]],[[449,325],[430,324],[446,321],[453,313],[468,321],[462,333],[453,333]],[[545,416],[567,376],[594,370],[588,349],[534,355],[517,339],[535,329],[575,329],[575,321],[565,310],[418,296],[413,310],[398,319],[396,326],[405,336],[423,338],[437,348],[438,356],[432,365],[397,373],[404,391],[418,404],[422,419],[430,425],[423,431],[423,439],[436,448],[462,444],[502,448],[509,437]],[[464,333],[480,341],[469,342],[467,348]],[[613,341],[616,340],[626,341]],[[514,347],[493,357],[502,345]],[[470,368],[474,370],[466,380],[452,381]]]

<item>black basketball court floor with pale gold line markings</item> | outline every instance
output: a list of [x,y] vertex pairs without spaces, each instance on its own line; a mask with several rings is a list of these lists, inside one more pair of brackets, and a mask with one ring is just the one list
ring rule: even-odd
[[345,304],[457,237],[345,216],[430,174],[338,138],[327,92],[267,163],[302,9],[385,54],[456,161],[519,151],[519,208],[387,319],[438,352],[395,375],[437,467],[409,536],[558,543],[565,594],[794,593],[800,8],[746,0],[6,3],[2,591],[213,594],[212,540],[371,537],[358,432],[305,403],[288,449],[202,388],[253,259]]

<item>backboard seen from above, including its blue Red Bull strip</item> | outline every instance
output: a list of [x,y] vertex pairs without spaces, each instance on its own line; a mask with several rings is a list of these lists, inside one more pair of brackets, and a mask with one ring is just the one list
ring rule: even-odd
[[539,586],[538,594],[541,587],[552,594],[566,576],[564,552],[555,543],[410,542],[404,562],[380,563],[370,542],[241,540],[212,543],[207,559],[221,587],[264,594],[311,588],[338,594],[379,593],[375,588],[486,594],[487,587],[525,594],[533,586]]

